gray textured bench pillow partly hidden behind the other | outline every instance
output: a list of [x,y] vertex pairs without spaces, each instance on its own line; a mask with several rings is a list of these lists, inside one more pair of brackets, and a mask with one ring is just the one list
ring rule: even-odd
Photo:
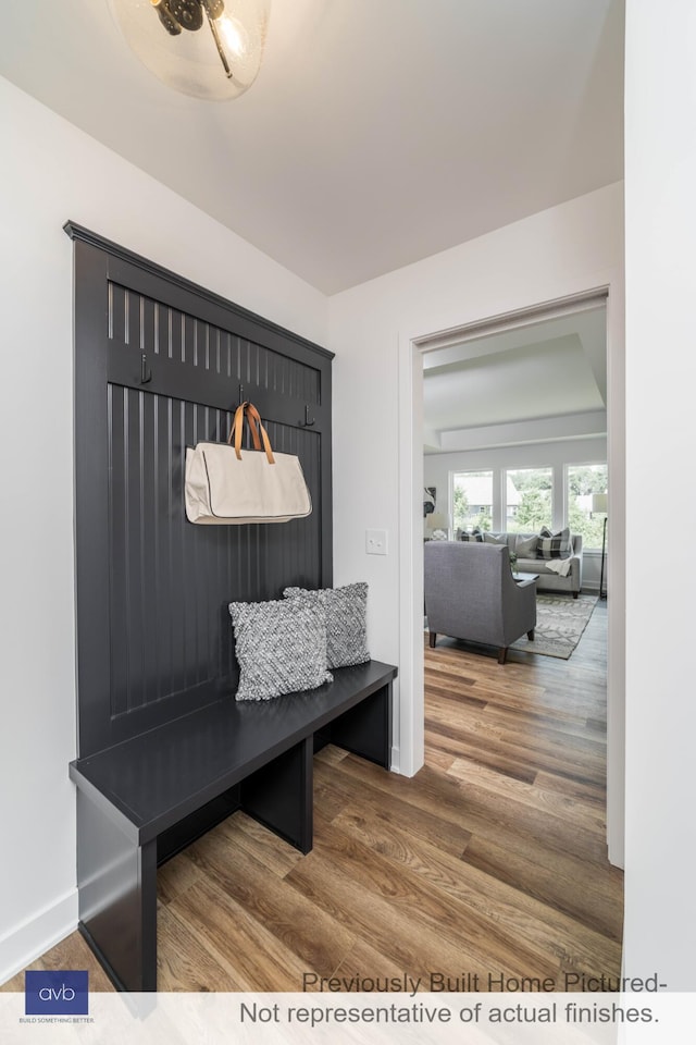
[[326,617],[326,663],[328,667],[364,664],[368,652],[368,585],[359,581],[344,588],[286,588],[283,595],[293,603],[321,606]]

